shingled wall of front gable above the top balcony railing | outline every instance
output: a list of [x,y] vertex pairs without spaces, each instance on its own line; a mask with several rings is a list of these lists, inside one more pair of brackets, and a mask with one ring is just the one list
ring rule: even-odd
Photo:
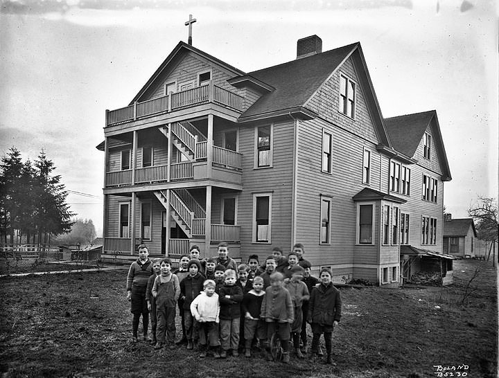
[[214,64],[211,65],[204,59],[200,59],[197,54],[189,52],[185,55],[184,59],[168,73],[166,78],[160,78],[158,80],[157,87],[152,92],[152,96],[143,100],[164,96],[164,85],[173,81],[177,82],[177,91],[179,84],[191,80],[194,80],[194,87],[198,87],[198,73],[209,69],[211,69],[211,80],[213,80],[213,84],[218,85],[218,87],[222,87],[223,89],[227,89],[228,91],[236,92],[235,88],[227,83],[227,80],[232,76],[219,69],[218,66]]

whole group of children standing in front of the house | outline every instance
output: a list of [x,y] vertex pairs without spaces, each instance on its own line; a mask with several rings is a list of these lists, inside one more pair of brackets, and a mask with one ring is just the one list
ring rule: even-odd
[[[295,356],[304,358],[310,323],[312,356],[323,355],[319,339],[324,334],[325,362],[332,363],[332,332],[341,318],[340,291],[331,283],[331,269],[322,268],[319,279],[310,275],[302,244],[295,244],[287,258],[276,247],[262,264],[258,255],[250,255],[247,264],[239,265],[229,257],[225,242],[218,244],[218,257],[207,260],[200,260],[199,247],[191,246],[175,271],[169,258],[149,260],[145,244],[138,251],[127,279],[133,342],[137,342],[141,316],[143,339],[155,349],[186,344],[189,350],[197,347],[200,358],[207,357],[207,352],[215,358],[227,358],[229,353],[238,357],[240,350],[251,357],[252,350],[261,348],[272,359],[269,342],[278,334],[282,361],[287,363],[290,341]],[[177,343],[176,306],[182,323],[182,339]]]

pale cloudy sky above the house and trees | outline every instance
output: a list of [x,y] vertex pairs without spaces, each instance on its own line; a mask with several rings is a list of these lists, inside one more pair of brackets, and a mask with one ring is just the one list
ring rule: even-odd
[[79,217],[102,232],[105,109],[128,105],[180,41],[243,71],[295,59],[317,34],[323,51],[360,42],[383,116],[436,109],[453,175],[445,205],[466,217],[498,194],[495,1],[3,1],[0,152],[44,149]]

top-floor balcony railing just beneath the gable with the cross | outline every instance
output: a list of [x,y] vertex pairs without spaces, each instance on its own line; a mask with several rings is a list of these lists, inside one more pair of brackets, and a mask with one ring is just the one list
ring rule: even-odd
[[243,111],[243,98],[241,96],[210,83],[209,85],[171,93],[152,100],[134,102],[133,105],[128,107],[106,111],[106,126],[120,125],[137,120],[137,118],[152,116],[161,112],[168,113],[182,110],[209,102],[236,111]]

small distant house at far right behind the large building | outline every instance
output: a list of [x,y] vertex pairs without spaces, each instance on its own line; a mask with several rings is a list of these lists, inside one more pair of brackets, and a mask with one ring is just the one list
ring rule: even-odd
[[[444,217],[444,253],[460,258],[474,258],[478,235],[472,218]],[[479,253],[480,254],[480,253]]]

